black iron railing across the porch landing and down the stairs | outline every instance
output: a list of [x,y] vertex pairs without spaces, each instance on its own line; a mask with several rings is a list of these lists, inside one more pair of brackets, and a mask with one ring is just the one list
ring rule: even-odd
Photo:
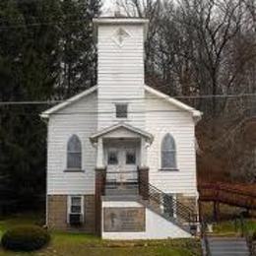
[[162,217],[190,227],[191,233],[197,231],[197,214],[182,204],[176,196],[166,194],[159,188],[139,178],[136,171],[106,171],[105,195],[140,195],[143,203],[158,212]]

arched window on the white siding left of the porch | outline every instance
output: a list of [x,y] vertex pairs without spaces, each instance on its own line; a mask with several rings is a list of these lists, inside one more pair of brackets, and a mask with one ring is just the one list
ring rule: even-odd
[[67,147],[67,168],[82,168],[82,146],[77,135],[72,135],[68,141]]

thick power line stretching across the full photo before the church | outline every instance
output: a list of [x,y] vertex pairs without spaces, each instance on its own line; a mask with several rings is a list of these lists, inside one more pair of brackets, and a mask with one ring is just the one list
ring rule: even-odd
[[[145,96],[145,97],[113,97],[113,98],[98,98],[99,101],[111,101],[117,102],[119,100],[125,100],[127,102],[131,100],[148,100],[148,99],[200,99],[200,98],[234,98],[237,97],[256,97],[256,94],[239,94],[239,95],[203,95],[203,96]],[[29,104],[56,104],[56,103],[72,103],[74,99],[60,99],[60,100],[27,100],[27,101],[0,101],[0,105],[29,105]]]

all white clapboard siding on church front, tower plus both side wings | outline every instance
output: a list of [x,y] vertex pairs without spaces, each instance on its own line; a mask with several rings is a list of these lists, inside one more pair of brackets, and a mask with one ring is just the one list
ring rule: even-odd
[[[114,34],[120,27],[129,33],[121,47],[114,40]],[[90,142],[90,136],[125,121],[154,136],[147,154],[150,182],[166,193],[196,195],[192,113],[180,111],[174,104],[151,95],[149,91],[145,93],[144,26],[99,24],[97,30],[97,91],[58,110],[48,121],[47,193],[94,194],[96,148]],[[116,118],[116,103],[128,103],[127,119]],[[166,133],[175,139],[177,171],[160,170],[161,141]],[[64,172],[67,142],[73,134],[82,142],[85,172]]]

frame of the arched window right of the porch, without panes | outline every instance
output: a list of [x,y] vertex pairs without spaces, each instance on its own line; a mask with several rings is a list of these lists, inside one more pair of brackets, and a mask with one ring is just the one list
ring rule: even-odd
[[[173,148],[172,150],[165,150],[163,151],[163,143],[164,141],[167,139],[167,137],[170,137],[171,138],[171,141],[172,141],[172,145],[171,145],[171,148]],[[163,166],[163,152],[166,153],[170,153],[173,154],[173,160],[174,160],[174,164],[173,166]],[[178,167],[177,167],[177,147],[176,147],[176,142],[175,142],[175,139],[174,137],[170,134],[170,133],[166,133],[162,139],[161,139],[161,143],[160,143],[160,170],[166,170],[166,171],[178,171]]]

